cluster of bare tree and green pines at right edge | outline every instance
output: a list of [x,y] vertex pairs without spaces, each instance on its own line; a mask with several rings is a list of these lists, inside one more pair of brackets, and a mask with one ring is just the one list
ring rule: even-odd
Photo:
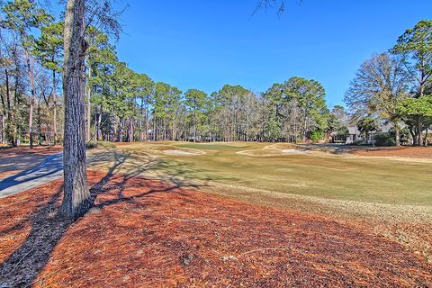
[[432,125],[432,21],[405,31],[392,49],[367,59],[345,96],[352,120],[363,130],[389,124],[395,145],[401,131],[412,145],[428,145]]

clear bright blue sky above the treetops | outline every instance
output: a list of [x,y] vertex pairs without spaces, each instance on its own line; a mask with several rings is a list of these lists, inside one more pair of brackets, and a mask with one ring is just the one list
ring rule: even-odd
[[257,0],[126,3],[116,46],[135,71],[207,93],[224,84],[262,92],[304,76],[320,81],[329,105],[343,103],[366,58],[432,16],[430,0],[285,0],[280,17],[259,11],[252,18]]

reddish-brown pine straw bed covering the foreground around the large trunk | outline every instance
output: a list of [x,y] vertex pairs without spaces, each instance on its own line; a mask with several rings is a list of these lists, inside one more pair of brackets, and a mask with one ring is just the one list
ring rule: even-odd
[[62,181],[0,199],[2,287],[428,287],[401,245],[322,216],[89,172],[94,208],[56,217]]

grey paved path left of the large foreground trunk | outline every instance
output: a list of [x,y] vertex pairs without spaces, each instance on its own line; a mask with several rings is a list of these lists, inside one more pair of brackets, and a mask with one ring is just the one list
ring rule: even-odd
[[0,198],[20,193],[63,176],[63,153],[49,155],[39,166],[0,179]]

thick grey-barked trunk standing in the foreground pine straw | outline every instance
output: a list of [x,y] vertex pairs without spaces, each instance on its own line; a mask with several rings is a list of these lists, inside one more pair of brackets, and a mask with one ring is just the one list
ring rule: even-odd
[[92,206],[85,174],[85,0],[67,0],[64,30],[64,197],[60,213],[79,217]]

